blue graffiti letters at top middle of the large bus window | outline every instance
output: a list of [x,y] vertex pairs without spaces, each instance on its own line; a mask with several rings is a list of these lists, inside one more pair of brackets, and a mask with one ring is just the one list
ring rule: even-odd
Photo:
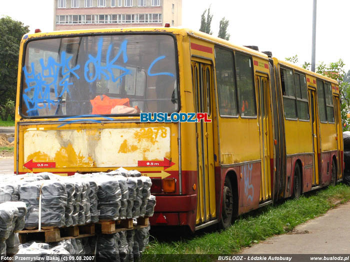
[[[123,62],[124,63],[127,62],[127,53],[126,53],[127,40],[126,39],[121,43],[118,53],[110,61],[109,59],[110,59],[110,52],[112,50],[112,44],[109,44],[108,50],[105,56],[105,66],[101,64],[102,46],[103,46],[103,38],[100,38],[97,44],[96,57],[93,57],[91,54],[88,55],[89,59],[86,61],[85,67],[84,67],[84,75],[85,75],[85,80],[87,82],[91,83],[95,81],[97,78],[98,80],[100,80],[101,75],[103,75],[105,80],[111,79],[113,82],[116,82],[118,79],[124,77],[125,75],[131,74],[130,69],[114,64],[119,59],[119,56],[121,54],[122,54]],[[94,69],[90,68],[90,64],[93,65]],[[119,69],[123,71],[123,73],[115,77],[113,73],[113,69]]]

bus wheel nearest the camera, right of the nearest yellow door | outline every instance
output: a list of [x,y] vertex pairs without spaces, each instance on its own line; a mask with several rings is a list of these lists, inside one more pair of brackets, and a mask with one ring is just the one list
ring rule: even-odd
[[232,216],[233,216],[232,186],[231,186],[231,182],[226,177],[225,184],[223,185],[222,216],[220,221],[222,229],[226,229],[231,225]]

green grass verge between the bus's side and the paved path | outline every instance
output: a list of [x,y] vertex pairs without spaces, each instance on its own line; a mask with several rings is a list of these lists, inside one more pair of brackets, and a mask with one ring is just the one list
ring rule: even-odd
[[[350,187],[330,186],[310,192],[298,200],[263,207],[241,216],[227,230],[205,233],[174,242],[152,240],[144,254],[232,254],[273,235],[290,232],[295,226],[324,214],[334,203],[350,200]],[[200,234],[200,233],[199,233]],[[151,240],[152,238],[150,238]]]

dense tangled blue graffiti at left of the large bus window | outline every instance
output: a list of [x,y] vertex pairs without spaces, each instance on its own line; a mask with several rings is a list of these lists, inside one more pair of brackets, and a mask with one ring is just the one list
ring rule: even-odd
[[[51,105],[56,103],[50,97],[52,87],[56,98],[62,97],[65,92],[69,94],[69,86],[73,84],[69,82],[69,78],[75,76],[79,79],[79,76],[74,71],[80,68],[80,65],[76,65],[73,68],[70,67],[69,61],[71,58],[72,56],[67,56],[64,51],[61,53],[60,62],[57,62],[50,56],[45,65],[43,58],[41,58],[39,60],[41,72],[38,73],[35,72],[34,63],[30,64],[30,72],[29,68],[23,67],[27,85],[27,88],[24,89],[23,100],[28,108],[27,112],[45,107],[50,109]],[[60,81],[58,81],[59,74],[62,76]],[[31,93],[31,99],[29,93]]]

